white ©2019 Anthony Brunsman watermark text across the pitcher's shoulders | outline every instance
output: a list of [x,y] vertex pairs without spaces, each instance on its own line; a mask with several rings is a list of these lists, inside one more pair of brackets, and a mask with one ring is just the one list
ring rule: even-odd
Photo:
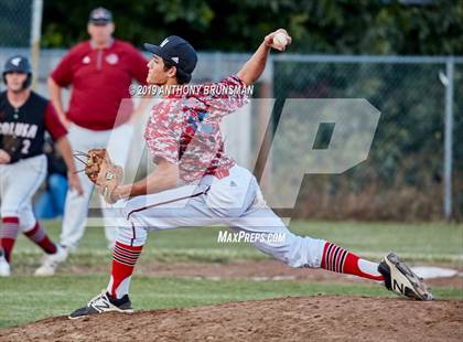
[[131,96],[252,96],[254,85],[198,84],[198,85],[131,85]]

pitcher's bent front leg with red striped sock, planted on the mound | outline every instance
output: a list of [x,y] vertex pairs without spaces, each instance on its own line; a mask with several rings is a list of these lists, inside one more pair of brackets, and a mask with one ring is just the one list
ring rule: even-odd
[[198,226],[211,220],[208,212],[204,210],[206,188],[197,191],[195,189],[196,186],[176,188],[153,195],[133,197],[126,203],[126,207],[121,210],[120,224],[117,226],[108,287],[86,307],[71,313],[71,319],[106,311],[132,312],[129,286],[148,232]]

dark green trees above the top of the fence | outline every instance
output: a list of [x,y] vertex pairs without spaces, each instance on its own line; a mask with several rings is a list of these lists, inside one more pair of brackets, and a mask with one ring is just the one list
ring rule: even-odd
[[43,47],[86,39],[98,6],[114,12],[116,35],[139,47],[177,34],[198,50],[248,52],[269,31],[288,28],[291,51],[300,53],[463,54],[460,0],[45,1]]

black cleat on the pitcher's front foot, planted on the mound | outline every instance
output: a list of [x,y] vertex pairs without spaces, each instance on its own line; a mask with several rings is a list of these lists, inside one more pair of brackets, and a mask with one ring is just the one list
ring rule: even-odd
[[132,304],[129,296],[123,296],[121,299],[112,299],[112,297],[105,290],[97,297],[93,298],[86,307],[75,310],[68,316],[69,319],[77,319],[87,317],[90,314],[104,313],[104,312],[123,312],[132,313]]

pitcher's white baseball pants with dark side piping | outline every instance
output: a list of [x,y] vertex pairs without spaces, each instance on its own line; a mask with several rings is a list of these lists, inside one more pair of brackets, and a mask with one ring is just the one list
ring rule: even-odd
[[[186,185],[127,202],[117,226],[117,241],[144,245],[155,229],[226,225],[233,231],[259,236],[252,245],[292,267],[320,267],[323,239],[291,233],[262,199],[256,178],[235,165],[223,179],[203,178]],[[270,238],[283,236],[283,238]]]

